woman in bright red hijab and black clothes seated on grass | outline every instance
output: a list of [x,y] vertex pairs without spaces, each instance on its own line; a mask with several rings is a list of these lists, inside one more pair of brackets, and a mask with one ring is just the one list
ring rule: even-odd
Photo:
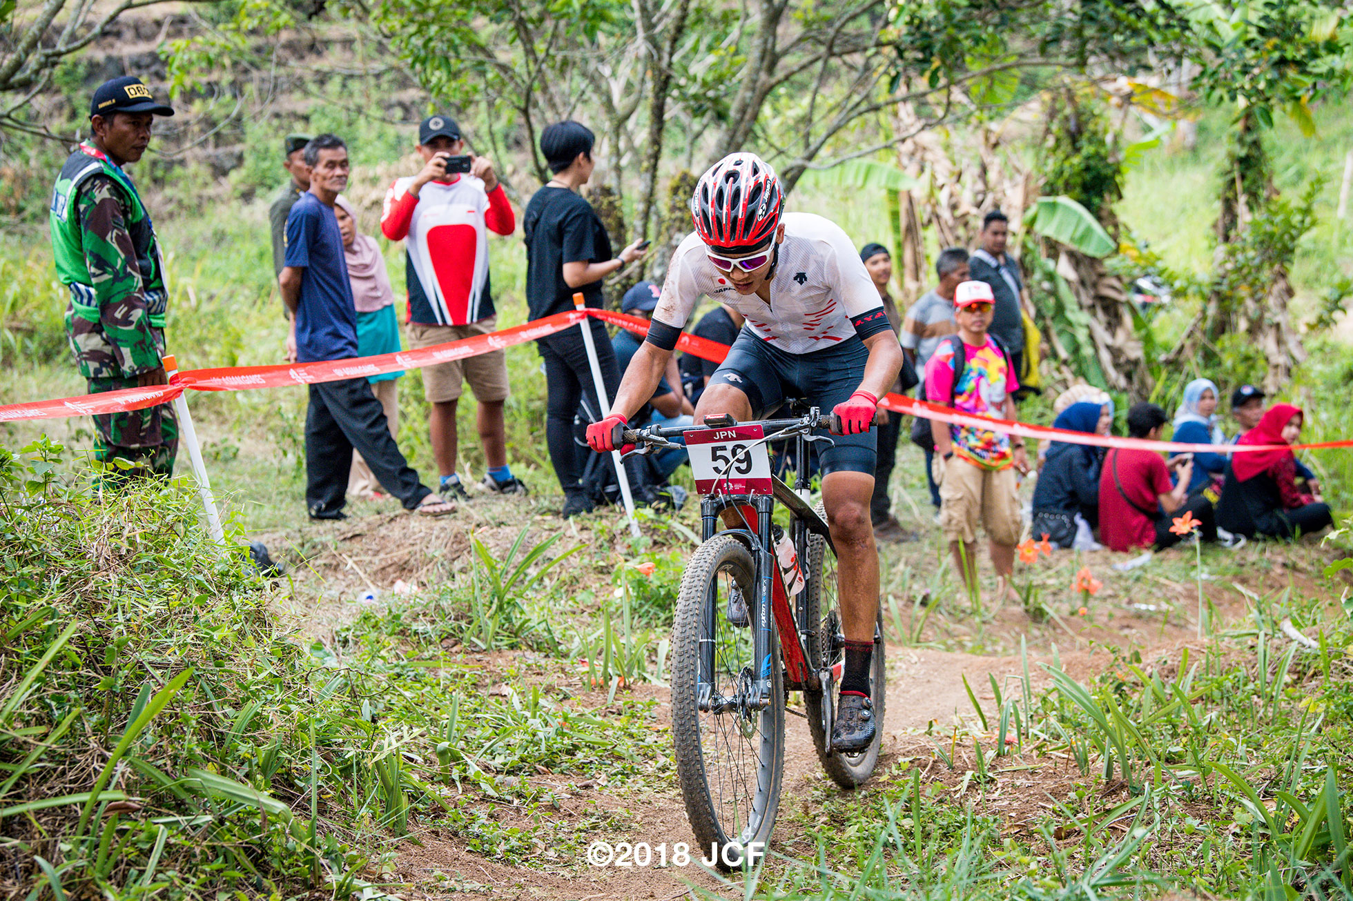
[[1275,403],[1260,423],[1245,433],[1241,445],[1279,445],[1268,451],[1231,455],[1226,482],[1216,502],[1216,525],[1254,537],[1293,538],[1334,524],[1330,506],[1296,484],[1293,444],[1302,433],[1302,409]]

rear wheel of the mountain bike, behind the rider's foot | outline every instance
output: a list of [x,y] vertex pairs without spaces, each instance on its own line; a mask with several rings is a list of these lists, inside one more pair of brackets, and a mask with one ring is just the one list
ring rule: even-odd
[[[819,505],[819,515],[825,513]],[[840,698],[840,670],[846,663],[846,636],[842,632],[840,598],[836,594],[836,555],[831,545],[819,536],[808,538],[805,559],[805,584],[808,593],[808,624],[816,630],[808,639],[808,666],[817,671],[836,670],[829,695],[824,691],[805,691],[804,708],[808,713],[808,729],[813,735],[813,747],[823,770],[843,789],[854,789],[871,775],[878,766],[878,751],[884,744],[884,702],[888,699],[888,667],[884,659],[884,613],[879,610],[874,625],[874,653],[870,660],[869,694],[874,702],[874,722],[878,732],[867,748],[859,754],[827,752],[827,737],[832,724],[828,713],[836,710]],[[828,705],[827,702],[831,701]]]

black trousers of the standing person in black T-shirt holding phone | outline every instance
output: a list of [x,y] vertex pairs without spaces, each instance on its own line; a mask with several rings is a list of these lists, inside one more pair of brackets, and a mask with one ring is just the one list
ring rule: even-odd
[[[578,329],[564,329],[536,342],[545,363],[545,446],[549,448],[549,463],[555,467],[559,486],[564,494],[582,490],[583,469],[587,465],[587,448],[574,441],[574,415],[582,407],[583,396],[591,410],[601,410],[597,387],[591,377],[591,364],[587,361],[587,345],[583,344],[582,329],[591,329],[593,344],[597,346],[597,363],[601,365],[601,382],[610,400],[620,388],[620,364],[616,350],[610,346],[610,336],[601,319],[587,319]],[[610,455],[607,455],[610,456]],[[640,468],[643,460],[630,457],[625,461],[629,484],[636,492],[648,484],[648,478]]]

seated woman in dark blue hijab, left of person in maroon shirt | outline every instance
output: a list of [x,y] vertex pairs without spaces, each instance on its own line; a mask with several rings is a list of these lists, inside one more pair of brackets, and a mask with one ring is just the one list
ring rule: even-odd
[[[1054,429],[1099,433],[1112,422],[1103,403],[1082,400],[1066,407]],[[1047,534],[1059,548],[1097,549],[1093,529],[1099,522],[1099,473],[1104,449],[1088,444],[1054,441],[1034,487],[1034,537]],[[1084,524],[1084,525],[1081,525]],[[1080,533],[1082,541],[1077,542]],[[1088,540],[1085,540],[1088,538]],[[1077,547],[1077,545],[1081,547]],[[1093,545],[1093,547],[1091,547]]]

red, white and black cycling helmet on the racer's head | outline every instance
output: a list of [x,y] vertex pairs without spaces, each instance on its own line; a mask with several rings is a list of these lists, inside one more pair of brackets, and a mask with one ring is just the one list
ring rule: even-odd
[[766,244],[779,227],[785,189],[755,153],[731,153],[700,177],[690,199],[690,218],[701,241],[713,248],[750,249]]

